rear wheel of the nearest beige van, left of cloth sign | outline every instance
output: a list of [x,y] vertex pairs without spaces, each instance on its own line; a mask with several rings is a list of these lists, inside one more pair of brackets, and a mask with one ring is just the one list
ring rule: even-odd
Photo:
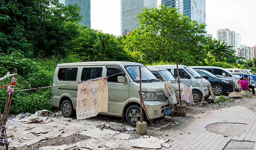
[[70,100],[65,100],[61,103],[61,113],[64,117],[72,117],[75,114],[73,104]]

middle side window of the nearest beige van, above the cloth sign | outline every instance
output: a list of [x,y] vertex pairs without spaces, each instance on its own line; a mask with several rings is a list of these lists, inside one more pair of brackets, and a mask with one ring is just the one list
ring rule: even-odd
[[97,68],[83,68],[82,81],[99,78],[102,75],[102,67]]

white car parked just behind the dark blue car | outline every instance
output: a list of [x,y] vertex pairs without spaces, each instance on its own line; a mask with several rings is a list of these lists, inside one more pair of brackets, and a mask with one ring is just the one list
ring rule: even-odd
[[232,72],[228,71],[227,69],[224,69],[222,67],[215,67],[215,66],[191,66],[193,69],[203,69],[206,71],[209,71],[213,74],[215,74],[218,77],[221,78],[227,78],[233,80],[235,83],[235,89],[240,89],[240,86],[238,83],[236,83],[241,77],[238,75],[233,74]]

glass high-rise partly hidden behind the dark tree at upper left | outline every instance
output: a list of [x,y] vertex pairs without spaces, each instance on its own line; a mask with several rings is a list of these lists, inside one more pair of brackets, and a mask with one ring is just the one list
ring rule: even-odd
[[86,27],[91,27],[91,2],[90,0],[59,0],[60,3],[63,3],[65,6],[74,5],[75,3],[81,7],[80,16],[83,16],[79,24],[86,25]]

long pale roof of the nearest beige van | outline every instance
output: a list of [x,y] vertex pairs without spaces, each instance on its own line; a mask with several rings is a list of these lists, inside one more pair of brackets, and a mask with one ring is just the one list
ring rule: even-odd
[[144,66],[140,63],[135,62],[121,62],[121,61],[106,61],[106,62],[78,62],[78,63],[63,63],[58,64],[57,66],[92,66],[92,65],[120,65],[120,66]]

